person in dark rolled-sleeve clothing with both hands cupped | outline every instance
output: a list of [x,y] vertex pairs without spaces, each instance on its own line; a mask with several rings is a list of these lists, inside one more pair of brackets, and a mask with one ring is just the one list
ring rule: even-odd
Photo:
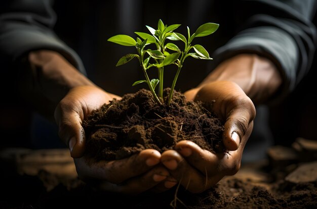
[[[1,64],[7,80],[16,84],[6,93],[6,101],[12,104],[26,100],[55,120],[78,176],[87,182],[97,181],[100,189],[107,191],[162,192],[180,182],[188,191],[198,193],[224,176],[234,175],[254,133],[255,105],[279,102],[292,92],[310,69],[315,50],[316,29],[311,22],[315,1],[234,1],[230,6],[226,1],[162,1],[155,10],[141,0],[56,2],[55,10],[61,13],[62,20],[55,30],[60,29],[60,35],[64,34],[64,40],[76,50],[53,32],[56,16],[51,2],[3,3]],[[67,6],[72,8],[72,15],[65,9]],[[187,100],[216,101],[211,111],[225,121],[223,143],[229,153],[213,154],[190,141],[181,141],[164,153],[146,149],[121,160],[89,162],[83,120],[94,109],[131,91],[130,81],[141,73],[110,70],[114,66],[111,63],[120,57],[117,54],[123,55],[124,50],[116,52],[111,45],[100,45],[99,40],[117,33],[132,34],[142,29],[137,23],[154,25],[162,16],[170,24],[184,22],[195,27],[205,20],[220,24],[215,35],[207,39],[208,46],[215,50],[214,61],[211,65],[189,63],[183,69],[186,82],[179,88],[185,91]],[[81,45],[75,45],[76,41]],[[206,69],[206,73],[190,71],[195,68]],[[259,125],[254,127],[256,130],[266,129]],[[258,141],[265,141],[262,139]]]

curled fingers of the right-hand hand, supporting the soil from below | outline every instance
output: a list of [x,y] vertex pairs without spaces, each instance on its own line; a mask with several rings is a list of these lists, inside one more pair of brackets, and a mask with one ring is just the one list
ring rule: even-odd
[[214,154],[191,141],[181,141],[175,149],[165,151],[161,162],[192,193],[205,191],[240,169],[240,151]]

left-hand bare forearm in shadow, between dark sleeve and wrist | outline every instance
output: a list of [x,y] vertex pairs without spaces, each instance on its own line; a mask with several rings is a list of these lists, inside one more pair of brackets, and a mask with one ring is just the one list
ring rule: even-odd
[[53,117],[56,105],[70,89],[94,86],[91,80],[54,51],[30,52],[24,63],[17,78],[20,92],[36,110],[49,118]]

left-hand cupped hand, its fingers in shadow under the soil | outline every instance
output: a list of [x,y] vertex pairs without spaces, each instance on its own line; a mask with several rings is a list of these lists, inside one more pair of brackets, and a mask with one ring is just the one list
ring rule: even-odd
[[175,180],[169,177],[169,172],[163,165],[157,165],[161,158],[157,150],[146,149],[129,158],[98,162],[84,154],[83,120],[112,98],[120,99],[95,86],[75,87],[55,110],[59,136],[69,145],[78,176],[86,182],[96,183],[95,188],[103,191],[137,194],[149,189],[167,190],[169,187],[165,186],[165,181]]

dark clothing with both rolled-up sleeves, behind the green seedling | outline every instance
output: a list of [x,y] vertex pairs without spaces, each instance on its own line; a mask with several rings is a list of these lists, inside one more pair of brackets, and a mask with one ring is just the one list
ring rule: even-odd
[[[199,84],[221,61],[239,53],[256,53],[271,59],[281,70],[283,88],[275,99],[282,100],[307,74],[316,45],[312,23],[314,0],[201,0],[199,4],[195,0],[160,1],[155,9],[152,3],[142,0],[51,3],[49,0],[2,3],[0,62],[6,63],[10,71],[13,66],[10,63],[19,61],[29,51],[55,50],[83,73],[87,72],[98,86],[118,95],[143,88],[131,87],[143,75],[137,62],[115,68],[121,56],[133,51],[114,46],[106,39],[115,34],[136,37],[134,31],[147,32],[145,25],[156,27],[160,18],[168,25],[182,24],[179,31],[183,34],[187,25],[193,32],[206,22],[220,24],[214,34],[197,39],[198,44],[214,52],[211,55],[214,60],[186,60],[176,85],[176,90],[182,92]],[[155,72],[149,73],[155,76]],[[174,73],[172,69],[165,71],[166,85],[172,83]]]

